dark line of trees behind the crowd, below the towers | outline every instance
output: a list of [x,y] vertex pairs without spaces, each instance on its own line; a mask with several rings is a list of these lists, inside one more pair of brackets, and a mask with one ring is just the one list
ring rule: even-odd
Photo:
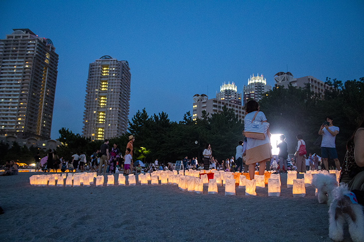
[[[326,91],[324,98],[311,91],[309,84],[304,88],[292,85],[288,88],[273,87],[259,101],[260,110],[270,123],[270,132],[286,136],[289,153],[294,153],[296,136],[302,134],[307,151],[321,155],[320,147],[313,143],[319,137],[318,131],[325,116],[332,116],[333,124],[340,128],[336,147],[339,160],[342,161],[346,142],[364,113],[364,78],[345,83],[328,78],[325,83],[332,86],[332,90]],[[211,114],[211,117],[203,111],[202,117],[196,120],[188,111],[179,122],[170,121],[164,112],[149,116],[143,109],[131,118],[128,131],[123,136],[109,139],[109,146],[117,143],[124,155],[128,136],[133,135],[134,160],[150,163],[158,159],[166,163],[182,160],[185,156],[197,157],[201,161],[204,146],[209,143],[213,156],[221,161],[235,156],[235,148],[243,140],[243,127],[242,120],[226,107],[219,114]],[[62,145],[57,148],[57,154],[65,160],[72,160],[71,156],[80,151],[85,152],[90,159],[103,144],[103,141],[91,141],[66,128],[60,129],[59,134]],[[19,160],[26,163],[31,163],[37,152],[34,147],[28,149],[17,144],[9,147],[9,144],[3,143],[0,144],[0,150],[1,161]]]

